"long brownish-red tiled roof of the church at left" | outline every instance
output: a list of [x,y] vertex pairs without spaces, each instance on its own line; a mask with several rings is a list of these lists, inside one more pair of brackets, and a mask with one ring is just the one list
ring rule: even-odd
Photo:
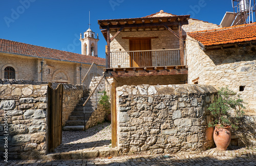
[[82,63],[97,63],[105,65],[105,59],[99,57],[93,57],[88,55],[81,55],[76,53],[71,53],[67,51],[60,51],[50,48],[45,48],[43,46],[31,45],[17,41],[11,41],[6,39],[0,39],[0,51],[30,55],[40,58],[51,58],[56,60],[72,61],[72,62],[82,62]]

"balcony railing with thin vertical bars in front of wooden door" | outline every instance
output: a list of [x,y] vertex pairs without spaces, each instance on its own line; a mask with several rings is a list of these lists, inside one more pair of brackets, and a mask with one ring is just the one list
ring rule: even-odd
[[110,52],[110,68],[173,65],[181,65],[180,49]]

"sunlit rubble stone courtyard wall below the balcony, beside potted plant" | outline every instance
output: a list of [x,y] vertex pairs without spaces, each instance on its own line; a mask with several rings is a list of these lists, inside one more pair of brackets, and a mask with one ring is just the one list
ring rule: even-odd
[[212,145],[210,85],[116,88],[117,145],[122,154],[203,151]]

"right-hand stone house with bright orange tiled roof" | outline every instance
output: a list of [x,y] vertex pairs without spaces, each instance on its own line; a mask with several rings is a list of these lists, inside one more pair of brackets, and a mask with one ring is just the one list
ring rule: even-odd
[[256,115],[256,23],[188,33],[188,83],[228,85]]

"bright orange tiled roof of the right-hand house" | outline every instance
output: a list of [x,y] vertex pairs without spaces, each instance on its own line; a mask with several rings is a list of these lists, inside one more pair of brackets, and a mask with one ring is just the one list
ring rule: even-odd
[[256,41],[256,22],[247,25],[190,32],[188,35],[201,42],[204,46]]

